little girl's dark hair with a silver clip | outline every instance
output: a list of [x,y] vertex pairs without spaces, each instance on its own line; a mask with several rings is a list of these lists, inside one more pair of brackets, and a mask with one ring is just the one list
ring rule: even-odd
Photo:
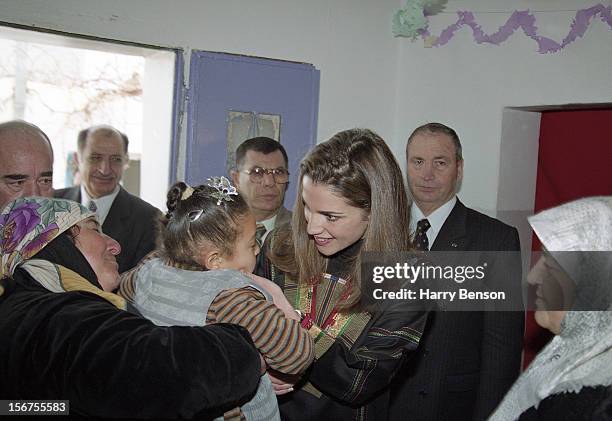
[[197,257],[203,247],[210,245],[232,256],[249,206],[240,195],[219,202],[213,197],[217,189],[207,185],[194,187],[189,197],[181,199],[188,188],[181,181],[168,191],[168,213],[162,217],[159,234],[162,256],[174,263],[202,266]]

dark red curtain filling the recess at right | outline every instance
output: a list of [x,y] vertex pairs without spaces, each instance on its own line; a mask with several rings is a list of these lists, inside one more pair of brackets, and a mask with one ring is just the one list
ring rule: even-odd
[[[535,212],[601,195],[612,195],[612,109],[543,112]],[[532,250],[540,250],[535,235]],[[525,367],[550,337],[528,313]]]

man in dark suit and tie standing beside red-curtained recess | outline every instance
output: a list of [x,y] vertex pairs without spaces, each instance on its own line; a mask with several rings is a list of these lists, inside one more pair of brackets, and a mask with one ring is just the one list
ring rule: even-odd
[[[463,158],[453,129],[439,123],[417,128],[406,159],[418,248],[520,251],[515,228],[457,199]],[[520,290],[520,265],[511,278]],[[391,419],[486,419],[519,374],[523,326],[519,311],[431,312],[417,355],[397,377]]]

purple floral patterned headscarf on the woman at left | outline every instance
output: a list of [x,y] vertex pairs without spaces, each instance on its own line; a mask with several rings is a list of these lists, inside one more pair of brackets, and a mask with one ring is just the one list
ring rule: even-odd
[[24,197],[10,202],[0,214],[0,279],[32,258],[58,235],[95,216],[84,206],[47,197]]

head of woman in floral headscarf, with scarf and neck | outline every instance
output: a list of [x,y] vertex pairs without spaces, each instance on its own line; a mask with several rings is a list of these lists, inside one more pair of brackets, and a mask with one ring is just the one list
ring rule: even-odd
[[[85,207],[68,200],[21,199],[0,215],[0,226],[0,278],[31,278],[53,292],[88,291],[126,308],[125,300],[106,293],[118,285],[115,256],[121,246],[101,233],[95,214]],[[25,273],[15,275],[18,268]]]

